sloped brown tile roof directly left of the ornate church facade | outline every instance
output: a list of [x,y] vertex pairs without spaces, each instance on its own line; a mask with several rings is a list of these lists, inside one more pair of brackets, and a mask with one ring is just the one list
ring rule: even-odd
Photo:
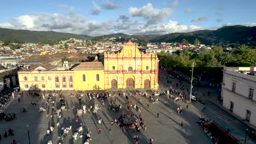
[[83,62],[72,70],[104,70],[102,62]]

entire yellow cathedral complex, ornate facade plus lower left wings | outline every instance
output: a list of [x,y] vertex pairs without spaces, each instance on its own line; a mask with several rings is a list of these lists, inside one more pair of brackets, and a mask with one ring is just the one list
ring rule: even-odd
[[105,52],[104,62],[83,62],[70,68],[49,64],[18,71],[21,91],[104,90],[109,88],[158,89],[159,59],[156,53],[142,52],[128,41],[117,52]]

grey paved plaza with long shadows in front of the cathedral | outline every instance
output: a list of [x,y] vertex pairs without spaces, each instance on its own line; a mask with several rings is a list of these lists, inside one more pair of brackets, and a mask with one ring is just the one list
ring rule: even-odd
[[[161,76],[167,76],[167,72],[160,70]],[[177,79],[172,79],[174,83],[178,81]],[[166,79],[159,79],[160,87],[170,87],[170,84],[166,83]],[[172,86],[171,85],[171,86]],[[187,84],[185,84],[187,87]],[[172,86],[173,87],[173,86]],[[189,87],[189,86],[188,86]],[[174,88],[174,87],[173,87]],[[178,89],[177,89],[178,90]],[[119,89],[117,91],[125,92],[126,94],[134,93],[132,89]],[[147,130],[144,131],[141,129],[140,132],[135,131],[134,129],[126,129],[125,131],[119,129],[118,125],[115,124],[112,128],[112,133],[109,134],[108,129],[110,128],[110,121],[114,119],[118,119],[120,114],[129,113],[125,107],[127,101],[124,96],[114,96],[114,92],[117,94],[117,91],[108,90],[111,94],[110,98],[105,102],[106,105],[102,105],[99,99],[96,99],[96,103],[101,107],[97,113],[85,113],[82,116],[76,116],[76,110],[81,108],[81,104],[79,104],[78,100],[78,92],[74,91],[62,91],[62,95],[66,99],[66,103],[69,107],[68,111],[63,111],[63,119],[59,119],[57,117],[51,118],[50,115],[53,112],[51,109],[51,104],[48,106],[48,109],[44,112],[38,112],[39,107],[44,105],[46,99],[39,99],[39,97],[31,97],[28,94],[25,94],[20,98],[20,103],[18,102],[18,97],[15,97],[10,101],[7,107],[5,107],[5,113],[16,113],[16,118],[14,121],[5,122],[0,121],[0,129],[2,134],[2,140],[0,143],[11,143],[13,139],[19,140],[22,144],[28,143],[28,131],[30,133],[30,142],[31,143],[47,143],[48,140],[52,140],[53,143],[58,143],[58,134],[61,134],[63,130],[62,127],[69,127],[72,125],[72,133],[69,132],[67,137],[65,138],[63,143],[83,143],[85,136],[79,138],[78,140],[73,140],[72,134],[75,129],[79,127],[79,124],[83,124],[83,132],[86,134],[86,131],[90,128],[91,130],[91,139],[90,143],[135,143],[133,140],[134,135],[138,135],[139,143],[149,143],[150,137],[154,138],[154,143],[213,143],[203,132],[200,125],[197,123],[199,121],[200,116],[205,117],[217,117],[210,112],[211,107],[206,107],[205,105],[195,102],[193,104],[189,104],[188,110],[185,107],[188,105],[184,102],[170,101],[169,103],[165,103],[165,96],[156,96],[159,101],[158,103],[152,104],[149,101],[150,93],[148,91],[148,95],[130,97],[132,103],[137,103],[138,106],[141,107],[141,117],[147,125]],[[142,89],[142,91],[146,91]],[[203,89],[197,90],[205,91]],[[90,91],[92,92],[92,91]],[[76,96],[70,97],[69,95],[73,93]],[[84,91],[85,95],[83,96],[83,104],[90,105],[93,103],[92,100],[89,100],[87,93],[88,91]],[[112,110],[108,109],[109,100],[114,101],[114,97],[117,99],[114,104],[121,105],[123,108],[115,113]],[[55,96],[57,105],[59,103],[59,95]],[[141,102],[138,102],[138,99],[141,99]],[[37,103],[36,106],[31,105],[31,101],[35,101]],[[149,108],[147,109],[147,104],[149,104]],[[27,112],[20,112],[20,109],[25,106],[27,108]],[[177,113],[177,107],[183,107],[182,113]],[[72,109],[74,107],[74,109]],[[210,110],[209,110],[210,109]],[[219,110],[218,110],[219,111]],[[132,109],[133,114],[139,115],[134,109]],[[157,113],[159,112],[159,118],[157,118]],[[205,112],[205,113],[203,113]],[[49,117],[46,118],[45,115],[49,114]],[[225,116],[223,116],[225,115]],[[224,113],[224,118],[226,114]],[[78,122],[75,122],[75,118],[78,117]],[[96,123],[96,119],[102,118],[103,122],[101,125]],[[221,119],[221,117],[218,117]],[[134,121],[134,118],[128,119],[129,121]],[[232,118],[232,121],[235,121]],[[56,126],[56,123],[60,123],[59,126]],[[183,122],[183,127],[181,123]],[[187,123],[188,122],[188,123]],[[49,129],[51,125],[55,125],[55,129],[53,133],[50,135],[46,135],[46,130]],[[3,131],[8,130],[9,128],[14,130],[14,136],[8,136],[7,139],[3,137]],[[102,129],[101,134],[98,134],[98,128]],[[231,133],[235,133],[235,128],[231,128]],[[238,131],[239,134],[240,131]],[[251,142],[252,141],[248,141]]]

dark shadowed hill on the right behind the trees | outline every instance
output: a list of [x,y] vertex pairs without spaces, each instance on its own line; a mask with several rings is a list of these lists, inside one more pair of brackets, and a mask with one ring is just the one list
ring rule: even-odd
[[202,44],[256,44],[256,27],[246,26],[225,26],[217,30],[200,30],[189,33],[171,33],[150,40],[151,42],[181,42],[187,39],[194,43],[197,38]]

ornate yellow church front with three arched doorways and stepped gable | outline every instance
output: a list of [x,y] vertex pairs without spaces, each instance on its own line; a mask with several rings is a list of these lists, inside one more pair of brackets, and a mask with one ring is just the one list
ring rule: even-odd
[[158,89],[158,63],[156,53],[139,51],[128,41],[121,51],[104,53],[105,88]]

